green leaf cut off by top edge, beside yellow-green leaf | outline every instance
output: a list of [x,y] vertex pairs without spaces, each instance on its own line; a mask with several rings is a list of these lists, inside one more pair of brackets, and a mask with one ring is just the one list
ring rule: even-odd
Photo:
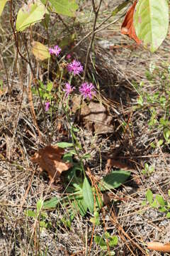
[[79,8],[75,0],[49,0],[57,14],[74,17]]

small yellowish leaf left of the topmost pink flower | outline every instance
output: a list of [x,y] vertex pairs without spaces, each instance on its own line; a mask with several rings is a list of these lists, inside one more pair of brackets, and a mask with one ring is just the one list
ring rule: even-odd
[[50,58],[47,46],[44,46],[42,43],[34,41],[32,51],[33,55],[35,55],[38,60],[46,60],[47,58]]

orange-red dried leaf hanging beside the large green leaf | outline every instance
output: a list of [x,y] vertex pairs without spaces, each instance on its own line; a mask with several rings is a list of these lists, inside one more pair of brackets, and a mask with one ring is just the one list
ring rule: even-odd
[[135,33],[135,27],[133,26],[133,14],[135,11],[136,4],[137,1],[134,2],[134,4],[130,7],[127,14],[125,15],[125,19],[121,26],[121,33],[124,35],[128,35],[130,38],[135,40],[136,43],[140,44],[141,41],[139,38],[137,38]]

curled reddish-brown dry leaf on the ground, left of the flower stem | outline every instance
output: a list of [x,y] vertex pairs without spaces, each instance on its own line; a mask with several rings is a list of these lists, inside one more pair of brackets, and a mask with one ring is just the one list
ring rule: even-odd
[[31,161],[37,163],[40,166],[40,172],[47,171],[50,181],[53,183],[62,174],[62,171],[67,171],[72,167],[71,163],[62,161],[62,155],[64,149],[58,146],[45,146],[43,149],[39,149],[38,152],[32,157]]

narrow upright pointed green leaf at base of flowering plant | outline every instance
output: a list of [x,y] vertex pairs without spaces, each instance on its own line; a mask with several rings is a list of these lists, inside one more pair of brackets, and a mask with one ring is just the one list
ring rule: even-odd
[[94,212],[94,195],[93,195],[91,186],[89,184],[89,181],[86,177],[84,178],[84,183],[83,183],[83,198],[87,208],[89,208],[90,212],[93,213]]

